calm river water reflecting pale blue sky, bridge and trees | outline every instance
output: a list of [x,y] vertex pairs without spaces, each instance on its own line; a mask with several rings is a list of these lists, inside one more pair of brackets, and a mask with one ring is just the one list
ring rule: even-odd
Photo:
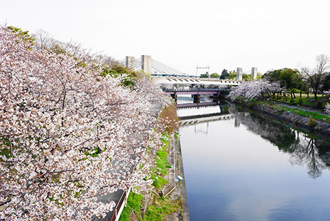
[[223,114],[179,128],[190,220],[330,220],[327,140],[235,107]]

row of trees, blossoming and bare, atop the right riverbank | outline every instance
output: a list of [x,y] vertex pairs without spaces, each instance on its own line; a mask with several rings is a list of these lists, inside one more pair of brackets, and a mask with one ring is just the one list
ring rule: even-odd
[[[296,94],[312,93],[314,101],[318,101],[320,94],[330,94],[330,59],[325,54],[316,56],[316,65],[313,68],[301,67],[298,69],[283,68],[281,70],[269,70],[259,81],[243,82],[238,87],[233,87],[230,92],[232,99],[241,98],[250,101],[254,98],[265,97],[277,99],[283,94],[287,101],[287,94],[291,101]],[[330,112],[330,105],[325,105],[325,111]]]

